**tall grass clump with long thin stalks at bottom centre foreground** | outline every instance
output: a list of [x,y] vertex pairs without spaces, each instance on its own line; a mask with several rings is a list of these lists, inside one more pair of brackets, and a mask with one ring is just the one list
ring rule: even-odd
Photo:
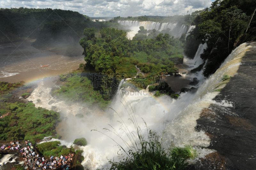
[[[128,112],[128,105],[125,107]],[[116,113],[116,112],[115,112]],[[116,113],[118,115],[118,113]],[[135,127],[135,131],[130,132],[127,130],[123,120],[120,122],[122,126],[119,130],[122,130],[130,141],[124,141],[125,147],[121,144],[116,143],[120,148],[120,151],[125,152],[128,155],[124,158],[123,154],[118,154],[119,162],[109,160],[111,167],[110,170],[115,169],[147,169],[147,170],[183,170],[186,168],[188,163],[186,159],[195,158],[197,156],[196,150],[192,148],[191,144],[184,144],[184,147],[175,147],[165,149],[163,147],[163,134],[160,137],[155,131],[150,130],[145,123],[146,134],[142,133],[142,129],[137,124],[137,120],[134,113],[129,113],[130,119]],[[118,115],[119,116],[119,115]],[[104,128],[108,132],[112,132],[119,138],[123,139],[121,135],[115,133],[115,129]],[[97,130],[96,130],[97,131]],[[98,131],[99,132],[99,131]],[[100,132],[101,133],[101,132]]]

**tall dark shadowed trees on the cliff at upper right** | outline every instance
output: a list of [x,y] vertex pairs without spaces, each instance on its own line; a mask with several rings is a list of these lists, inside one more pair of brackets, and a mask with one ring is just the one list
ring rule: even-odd
[[193,57],[199,43],[207,44],[201,55],[207,60],[204,76],[214,73],[238,45],[255,40],[255,30],[250,29],[256,27],[255,16],[245,34],[255,7],[255,0],[216,0],[194,19],[196,28],[187,37],[185,52]]

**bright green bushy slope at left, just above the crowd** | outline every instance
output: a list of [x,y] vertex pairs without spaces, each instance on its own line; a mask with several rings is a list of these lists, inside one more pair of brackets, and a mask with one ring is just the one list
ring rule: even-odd
[[42,140],[46,136],[54,135],[54,123],[60,115],[52,110],[38,110],[33,103],[0,103],[0,108],[11,112],[10,116],[0,119],[1,140]]

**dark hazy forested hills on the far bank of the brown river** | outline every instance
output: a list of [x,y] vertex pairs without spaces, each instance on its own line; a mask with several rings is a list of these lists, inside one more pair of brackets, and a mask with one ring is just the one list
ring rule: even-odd
[[93,22],[79,12],[60,9],[1,8],[0,15],[0,43],[36,39],[34,47],[68,56],[82,54],[79,40],[84,28],[122,28],[118,23]]

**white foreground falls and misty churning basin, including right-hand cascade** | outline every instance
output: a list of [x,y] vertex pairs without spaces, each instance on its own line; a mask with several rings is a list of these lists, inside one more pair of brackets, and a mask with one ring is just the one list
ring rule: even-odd
[[[44,81],[38,82],[38,87],[28,100],[32,100],[36,104],[36,107],[40,106],[51,109],[52,105],[57,106],[58,111],[66,117],[57,127],[62,128],[63,134],[66,135],[63,136],[63,140],[59,140],[63,145],[71,146],[76,138],[85,137],[87,139],[88,145],[80,147],[80,149],[84,150],[83,156],[85,159],[82,165],[90,170],[106,167],[108,165],[106,157],[112,159],[119,150],[116,143],[106,135],[113,138],[117,143],[123,143],[118,136],[102,130],[103,128],[115,129],[116,133],[121,134],[123,131],[120,129],[121,124],[118,121],[122,119],[125,123],[123,125],[126,130],[134,130],[134,126],[129,120],[131,113],[129,108],[132,108],[134,116],[142,129],[145,129],[145,125],[141,118],[146,121],[150,129],[154,129],[157,132],[161,132],[164,122],[167,122],[164,136],[166,146],[169,146],[172,142],[176,145],[181,145],[182,142],[191,142],[200,152],[199,157],[204,157],[213,151],[201,149],[201,147],[209,146],[210,139],[203,131],[195,131],[196,120],[200,117],[201,110],[212,103],[232,106],[232,104],[226,101],[222,101],[221,103],[213,101],[212,99],[219,93],[214,91],[214,88],[221,83],[223,75],[228,74],[232,76],[236,73],[241,58],[249,47],[246,47],[245,43],[240,45],[232,51],[216,73],[207,80],[202,79],[196,93],[182,93],[176,100],[168,96],[153,97],[148,90],[132,92],[131,89],[122,89],[121,85],[127,81],[124,79],[119,84],[119,90],[125,92],[125,95],[122,97],[116,96],[110,106],[116,113],[111,109],[106,111],[97,108],[88,110],[86,105],[78,103],[67,106],[65,101],[58,101],[51,96],[51,87],[45,87]],[[200,44],[195,58],[193,60],[187,60],[187,64],[191,64],[191,68],[195,68],[202,63],[200,54],[205,48],[206,45]],[[195,63],[193,64],[193,62]],[[37,99],[40,99],[41,102],[37,102]],[[48,103],[51,100],[56,100],[56,102],[49,105]],[[128,107],[125,109],[124,106],[126,104]],[[73,116],[77,113],[82,113],[84,118],[78,119]],[[108,124],[112,127],[109,127]],[[96,129],[99,132],[91,131],[92,129]],[[128,141],[124,135],[123,138]]]

